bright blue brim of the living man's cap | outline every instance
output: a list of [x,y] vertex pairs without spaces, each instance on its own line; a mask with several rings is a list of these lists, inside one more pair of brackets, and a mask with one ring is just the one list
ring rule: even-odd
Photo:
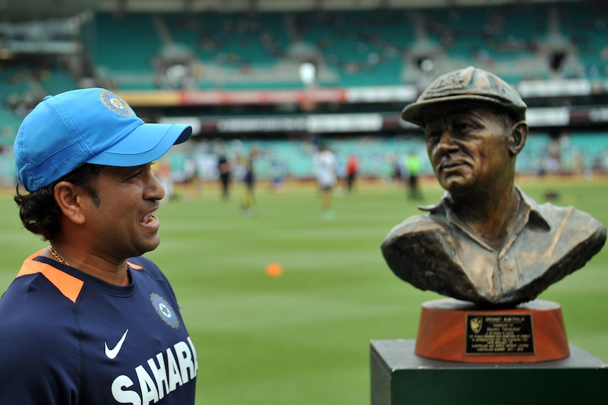
[[192,127],[182,124],[144,123],[87,163],[104,166],[140,166],[157,160],[174,145],[190,139]]

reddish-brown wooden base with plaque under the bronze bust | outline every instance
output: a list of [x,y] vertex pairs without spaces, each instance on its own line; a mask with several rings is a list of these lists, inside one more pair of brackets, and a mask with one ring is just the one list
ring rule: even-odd
[[456,299],[422,304],[415,354],[464,363],[537,363],[570,355],[561,306],[534,300],[478,309]]

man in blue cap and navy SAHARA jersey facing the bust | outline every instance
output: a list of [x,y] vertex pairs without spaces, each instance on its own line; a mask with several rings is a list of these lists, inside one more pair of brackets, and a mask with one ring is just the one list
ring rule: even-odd
[[193,342],[141,256],[159,244],[152,162],[191,133],[143,123],[99,88],[47,96],[25,117],[15,201],[49,246],[0,299],[1,404],[194,404]]

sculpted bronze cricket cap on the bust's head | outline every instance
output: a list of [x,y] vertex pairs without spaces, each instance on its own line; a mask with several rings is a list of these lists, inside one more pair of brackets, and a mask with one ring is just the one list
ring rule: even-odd
[[401,111],[401,118],[420,127],[424,126],[422,111],[432,104],[446,101],[479,100],[498,104],[525,120],[525,105],[516,89],[497,75],[469,66],[437,77],[418,97]]

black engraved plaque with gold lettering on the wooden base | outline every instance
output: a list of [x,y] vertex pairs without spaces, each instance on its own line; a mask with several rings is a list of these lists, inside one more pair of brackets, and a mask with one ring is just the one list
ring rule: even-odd
[[465,354],[534,354],[532,314],[467,314],[465,345]]

